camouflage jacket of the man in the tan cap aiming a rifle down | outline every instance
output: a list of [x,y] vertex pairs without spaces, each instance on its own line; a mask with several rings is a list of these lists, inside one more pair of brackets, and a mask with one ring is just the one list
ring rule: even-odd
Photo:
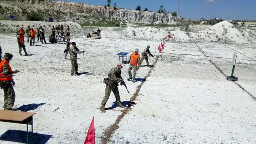
[[123,80],[123,78],[121,77],[121,69],[118,69],[117,67],[113,67],[109,73],[108,73],[108,77],[109,77],[109,83],[108,85],[118,85],[117,82],[121,82]]

